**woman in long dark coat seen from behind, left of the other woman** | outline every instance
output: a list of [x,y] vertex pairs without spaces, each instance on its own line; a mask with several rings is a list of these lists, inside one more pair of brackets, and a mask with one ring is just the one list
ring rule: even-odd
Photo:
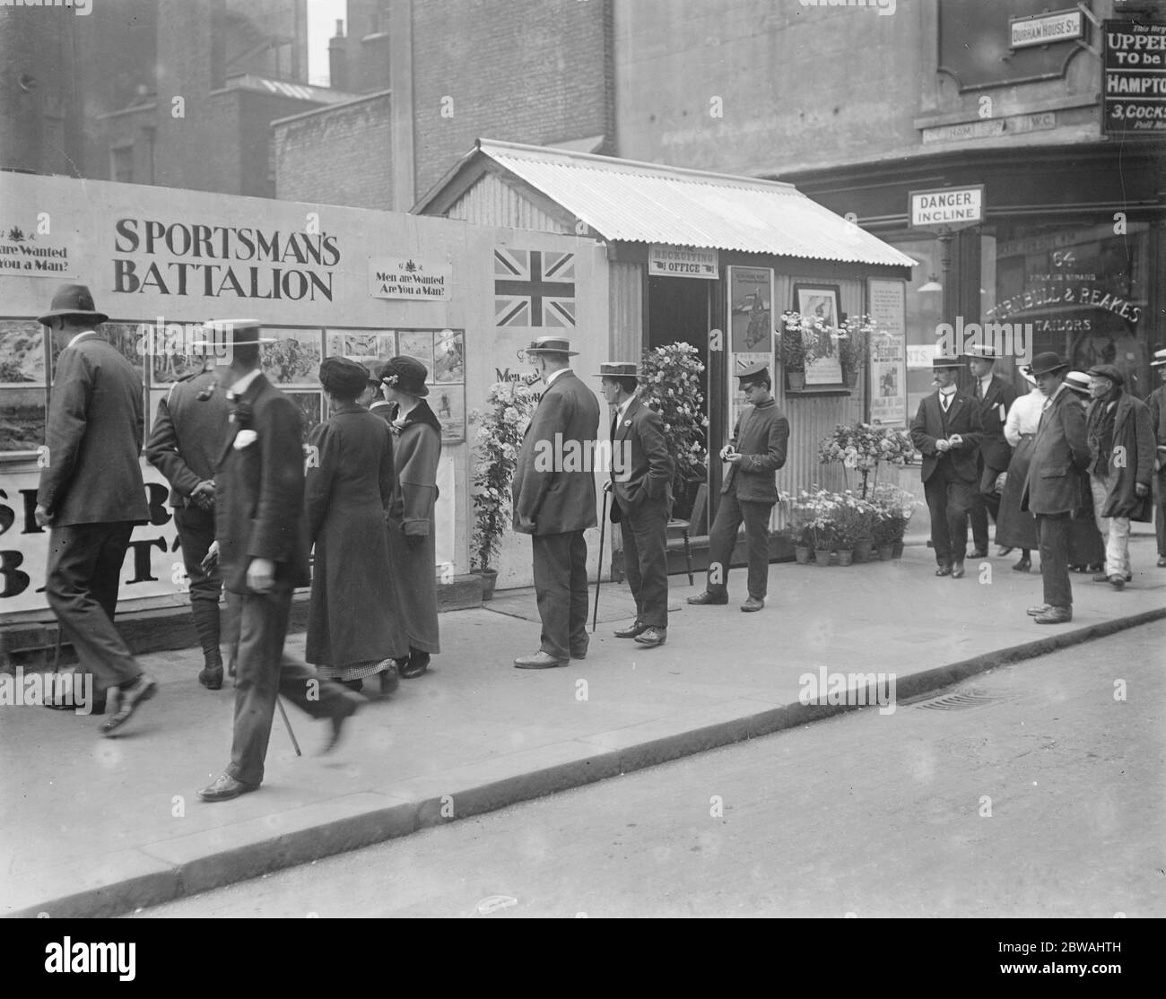
[[319,381],[332,416],[309,438],[304,504],[316,548],[308,613],[308,661],[321,676],[347,683],[380,676],[396,685],[394,660],[407,643],[393,599],[385,512],[393,497],[393,441],[385,421],[356,402],[368,372],[326,358]]

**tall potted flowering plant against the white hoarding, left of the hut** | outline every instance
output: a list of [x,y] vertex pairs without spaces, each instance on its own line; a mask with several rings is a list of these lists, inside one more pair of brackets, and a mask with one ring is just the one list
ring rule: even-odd
[[511,526],[511,485],[518,467],[518,452],[522,431],[538,401],[529,382],[498,381],[486,393],[485,408],[470,414],[470,422],[478,427],[471,562],[483,577],[484,600],[493,596],[498,579],[498,553],[503,535]]

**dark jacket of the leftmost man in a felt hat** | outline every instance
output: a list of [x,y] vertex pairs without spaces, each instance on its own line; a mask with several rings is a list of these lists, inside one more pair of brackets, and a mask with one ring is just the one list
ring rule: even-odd
[[92,335],[61,352],[36,494],[55,527],[149,520],[145,422],[141,379],[111,344]]

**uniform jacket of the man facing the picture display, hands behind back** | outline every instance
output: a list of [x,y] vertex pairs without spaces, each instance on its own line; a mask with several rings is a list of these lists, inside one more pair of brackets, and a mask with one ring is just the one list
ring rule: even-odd
[[217,379],[213,370],[188,375],[171,385],[157,403],[146,460],[170,484],[170,506],[183,506],[201,481],[215,478],[231,407],[223,392],[212,392],[206,399],[198,399],[198,393]]

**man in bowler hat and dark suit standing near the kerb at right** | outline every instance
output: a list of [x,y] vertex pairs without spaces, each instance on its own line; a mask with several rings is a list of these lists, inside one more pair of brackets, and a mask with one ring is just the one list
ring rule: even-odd
[[1045,603],[1028,608],[1038,625],[1073,620],[1069,583],[1069,527],[1073,512],[1084,502],[1082,490],[1089,466],[1086,413],[1065,385],[1069,365],[1054,353],[1032,359],[1030,371],[1047,400],[1033,439],[1032,463],[1020,495],[1020,509],[1037,518],[1040,575]]

